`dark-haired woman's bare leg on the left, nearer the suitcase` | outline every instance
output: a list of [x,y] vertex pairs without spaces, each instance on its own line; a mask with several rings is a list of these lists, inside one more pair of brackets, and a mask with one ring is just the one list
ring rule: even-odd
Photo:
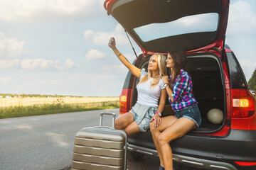
[[155,127],[154,121],[149,124],[151,135],[154,141],[154,145],[156,147],[157,153],[159,154],[160,165],[164,167],[164,159],[161,154],[161,149],[159,147],[158,137],[161,135],[161,132],[168,128],[171,124],[173,124],[177,120],[173,115],[161,118],[161,124],[158,127]]

